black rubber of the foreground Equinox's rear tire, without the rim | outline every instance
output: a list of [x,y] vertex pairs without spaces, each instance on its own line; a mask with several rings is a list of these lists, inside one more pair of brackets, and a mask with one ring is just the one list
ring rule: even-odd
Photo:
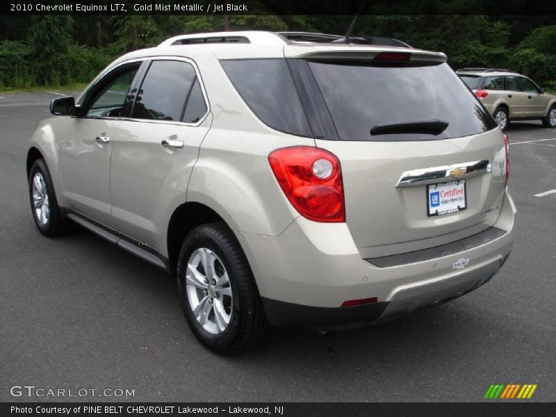
[[[218,261],[215,261],[214,265],[217,262],[219,265],[221,263],[221,266],[224,267],[223,270],[227,272],[229,277],[229,286],[231,287],[233,300],[231,301],[231,306],[229,306],[231,317],[227,327],[219,334],[211,334],[201,325],[195,317],[195,313],[193,313],[193,306],[191,306],[188,297],[188,290],[186,288],[188,263],[193,259],[192,255],[194,257],[196,253],[199,254],[199,250],[213,252],[218,257]],[[197,268],[199,267],[204,270],[200,263]],[[206,272],[204,273],[206,274]],[[177,279],[181,307],[188,325],[199,341],[208,347],[208,349],[213,350],[213,352],[219,354],[238,353],[258,345],[268,332],[268,322],[265,318],[261,297],[251,268],[236,236],[234,236],[234,233],[226,224],[222,222],[202,224],[190,231],[183,240],[181,251],[179,252]],[[201,288],[193,287],[190,287],[190,291],[197,291],[196,294],[199,294],[201,297],[203,295],[206,297],[208,293],[208,291],[204,291]],[[197,297],[197,295],[194,297]],[[222,296],[222,300],[224,300],[224,296]],[[212,301],[216,304],[216,300],[210,301],[211,306],[209,308],[213,309]],[[213,320],[216,322],[218,320],[215,319],[214,310],[211,311]],[[209,314],[207,313],[207,318]]]

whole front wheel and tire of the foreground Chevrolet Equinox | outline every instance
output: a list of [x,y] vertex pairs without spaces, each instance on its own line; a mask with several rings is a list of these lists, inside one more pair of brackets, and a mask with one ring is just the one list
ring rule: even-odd
[[44,159],[38,159],[29,171],[29,202],[33,220],[44,236],[64,234],[66,222],[58,206],[54,185]]

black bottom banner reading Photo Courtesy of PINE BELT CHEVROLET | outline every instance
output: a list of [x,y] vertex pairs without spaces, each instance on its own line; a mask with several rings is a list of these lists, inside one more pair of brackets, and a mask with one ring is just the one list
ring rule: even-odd
[[0,416],[468,417],[554,416],[555,403],[1,403]]

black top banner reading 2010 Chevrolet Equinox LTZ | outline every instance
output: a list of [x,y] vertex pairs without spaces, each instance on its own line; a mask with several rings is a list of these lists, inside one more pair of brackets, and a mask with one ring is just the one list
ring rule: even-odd
[[546,0],[7,0],[0,15],[555,15]]

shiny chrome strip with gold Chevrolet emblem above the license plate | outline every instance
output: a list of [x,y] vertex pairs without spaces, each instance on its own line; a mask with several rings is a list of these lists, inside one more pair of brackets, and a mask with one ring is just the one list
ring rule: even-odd
[[396,188],[455,181],[458,179],[475,177],[476,175],[488,174],[490,172],[492,172],[492,165],[487,160],[422,168],[420,170],[404,172],[398,180]]

